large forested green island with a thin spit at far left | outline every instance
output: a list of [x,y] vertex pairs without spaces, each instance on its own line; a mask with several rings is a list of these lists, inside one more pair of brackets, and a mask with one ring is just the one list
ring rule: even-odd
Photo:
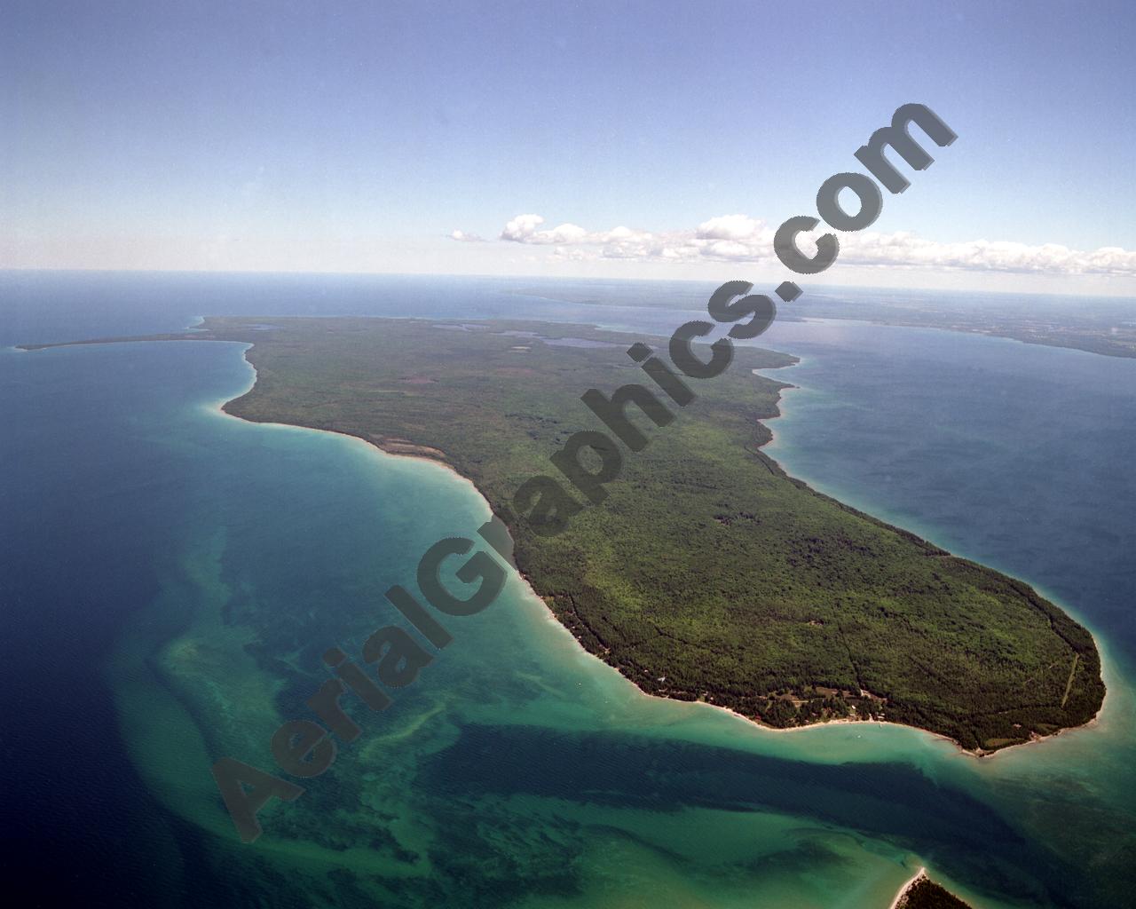
[[737,348],[726,373],[691,380],[698,400],[674,423],[640,420],[650,443],[624,451],[607,501],[549,537],[515,516],[513,493],[557,473],[549,456],[574,432],[603,428],[584,391],[650,385],[626,348],[665,340],[515,320],[210,317],[80,343],[141,340],[252,344],[257,381],[227,412],[346,433],[470,478],[556,617],[648,693],[778,728],[885,719],[980,754],[1101,707],[1093,637],[1056,606],[760,450],[787,385],[753,370],[795,362],[786,355]]

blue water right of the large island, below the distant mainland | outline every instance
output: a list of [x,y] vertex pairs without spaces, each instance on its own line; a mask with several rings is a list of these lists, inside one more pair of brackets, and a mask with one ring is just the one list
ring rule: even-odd
[[803,390],[772,424],[796,476],[1029,578],[1136,654],[1136,359],[836,320],[776,332],[804,358],[777,376]]

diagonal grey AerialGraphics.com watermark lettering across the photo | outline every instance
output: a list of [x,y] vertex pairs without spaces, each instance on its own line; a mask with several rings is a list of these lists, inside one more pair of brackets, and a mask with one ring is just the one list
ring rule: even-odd
[[[872,133],[868,143],[855,152],[860,164],[893,194],[903,192],[910,183],[884,156],[885,149],[891,149],[916,170],[924,170],[934,161],[911,137],[911,124],[919,126],[939,147],[950,145],[957,137],[925,105],[900,107],[892,117],[891,125]],[[841,205],[840,195],[844,190],[851,190],[859,200],[855,214],[849,214]],[[842,233],[864,230],[879,217],[883,207],[884,197],[879,186],[861,173],[834,174],[817,192],[817,214],[829,227]],[[796,274],[819,274],[830,267],[840,255],[840,240],[833,233],[815,239],[816,252],[811,256],[807,256],[797,247],[797,236],[815,231],[819,224],[816,217],[799,215],[782,224],[774,236],[777,258]],[[627,349],[627,356],[641,365],[669,401],[678,407],[686,407],[696,395],[684,378],[703,380],[720,375],[734,358],[730,339],[741,341],[757,337],[777,317],[772,299],[765,294],[750,294],[752,289],[753,285],[745,281],[722,284],[707,303],[707,314],[713,322],[687,322],[675,330],[668,345],[675,368],[643,343],[632,344]],[[801,289],[794,282],[786,281],[775,293],[784,302],[792,302],[801,295]],[[716,324],[732,324],[732,327],[724,337],[710,344],[710,357],[703,360],[696,356],[692,344],[695,339],[711,335]],[[676,368],[682,376],[676,374]],[[504,515],[509,519],[524,520],[541,536],[562,533],[574,515],[607,498],[604,486],[616,479],[623,468],[620,444],[633,452],[642,451],[648,444],[648,436],[627,416],[629,403],[634,403],[657,426],[666,426],[675,419],[674,411],[645,385],[623,385],[610,397],[596,389],[588,389],[580,395],[580,400],[607,427],[610,435],[599,430],[582,430],[571,435],[549,458],[562,479],[551,475],[527,479],[512,497],[515,514]],[[585,452],[591,454],[585,456]],[[583,495],[586,502],[571,495],[562,481]],[[418,564],[418,589],[436,612],[454,617],[475,615],[490,606],[504,586],[508,576],[504,564],[512,562],[511,540],[504,523],[494,516],[482,525],[478,535],[498,558],[485,550],[469,556],[475,542],[463,536],[440,540],[421,557]],[[466,598],[456,597],[441,579],[442,564],[453,556],[469,556],[457,570],[459,581],[477,585],[474,593]],[[406,587],[395,585],[385,595],[434,650],[440,651],[451,643],[453,639],[445,627]],[[423,647],[404,628],[389,625],[367,639],[361,657],[364,662],[374,665],[375,676],[385,689],[400,689],[414,682],[418,673],[434,660],[435,653]],[[273,758],[279,768],[301,778],[319,776],[332,766],[336,756],[336,740],[350,743],[361,734],[360,727],[340,704],[340,698],[348,689],[373,711],[385,710],[392,703],[391,695],[384,687],[375,684],[339,647],[327,650],[323,659],[335,677],[325,681],[304,703],[326,725],[311,719],[289,720],[275,732],[270,742]],[[293,801],[303,793],[303,789],[295,783],[235,758],[218,760],[212,767],[212,774],[237,833],[247,843],[261,834],[257,812],[270,799]]]

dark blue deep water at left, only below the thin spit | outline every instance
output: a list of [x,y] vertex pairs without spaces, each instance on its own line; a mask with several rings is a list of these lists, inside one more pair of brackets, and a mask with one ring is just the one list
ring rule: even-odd
[[178,854],[124,752],[103,664],[193,508],[192,459],[153,440],[224,362],[187,345],[122,350],[0,352],[0,865],[42,887],[33,904],[160,904],[153,853],[136,847]]

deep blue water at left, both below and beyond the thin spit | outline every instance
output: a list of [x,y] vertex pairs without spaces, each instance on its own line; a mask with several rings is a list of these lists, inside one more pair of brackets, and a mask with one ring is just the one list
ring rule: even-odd
[[156,847],[172,865],[193,860],[193,837],[123,749],[103,667],[157,595],[168,567],[160,559],[184,545],[203,507],[191,477],[208,474],[210,452],[189,448],[199,439],[179,440],[186,408],[236,393],[247,377],[233,345],[80,347],[50,357],[10,345],[179,331],[206,314],[566,319],[580,309],[501,285],[0,273],[0,753],[12,781],[0,789],[0,868],[42,882],[43,906],[127,895],[159,904],[170,868],[154,867]]

